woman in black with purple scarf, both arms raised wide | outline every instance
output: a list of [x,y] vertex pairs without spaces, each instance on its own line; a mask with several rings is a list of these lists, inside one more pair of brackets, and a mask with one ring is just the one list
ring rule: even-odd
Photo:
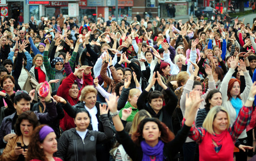
[[[118,116],[117,97],[114,95],[106,100],[110,115],[112,116],[115,129],[120,137],[120,142],[124,150],[134,161],[172,160],[178,153],[186,140],[188,129],[193,124],[195,112],[191,110],[189,119],[186,120],[184,127],[174,138],[174,134],[169,131],[164,123],[156,118],[146,118],[138,125],[138,129],[132,134],[132,138],[124,131],[124,126]],[[197,100],[197,105],[200,104]],[[195,108],[195,107],[194,107]]]

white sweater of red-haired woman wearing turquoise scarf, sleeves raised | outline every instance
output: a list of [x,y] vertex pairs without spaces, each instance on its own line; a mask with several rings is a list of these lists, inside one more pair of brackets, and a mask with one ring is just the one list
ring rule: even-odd
[[[231,102],[228,100],[228,82],[230,81],[232,74],[235,72],[234,69],[229,68],[226,76],[223,78],[223,81],[221,82],[220,92],[222,94],[222,106],[228,111],[229,117],[230,117],[230,125],[232,126],[234,122],[236,121],[236,110],[232,106]],[[250,78],[249,72],[244,72],[245,74],[245,90],[242,94],[240,94],[243,105],[245,104],[245,101],[247,100],[250,92],[250,87],[252,86],[252,80]],[[247,137],[246,129],[243,130],[242,134],[238,137],[238,139],[242,139]]]

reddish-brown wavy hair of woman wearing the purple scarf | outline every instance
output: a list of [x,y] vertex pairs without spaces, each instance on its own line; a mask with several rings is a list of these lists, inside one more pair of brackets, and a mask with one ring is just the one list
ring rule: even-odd
[[163,142],[168,143],[169,141],[172,141],[174,139],[175,136],[173,132],[171,132],[171,130],[165,125],[165,123],[161,122],[157,118],[145,118],[141,121],[141,123],[139,123],[137,131],[132,134],[132,140],[137,146],[140,147],[140,143],[141,141],[143,141],[143,127],[147,122],[154,122],[158,125],[159,131],[161,131],[160,139]]

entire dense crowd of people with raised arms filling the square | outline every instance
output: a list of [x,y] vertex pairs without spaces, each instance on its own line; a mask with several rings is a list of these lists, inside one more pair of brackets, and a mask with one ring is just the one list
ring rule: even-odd
[[0,160],[252,157],[256,21],[155,19],[2,19]]

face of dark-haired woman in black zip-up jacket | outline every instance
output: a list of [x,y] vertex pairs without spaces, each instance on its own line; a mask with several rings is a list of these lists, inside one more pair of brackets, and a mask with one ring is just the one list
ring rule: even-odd
[[78,131],[85,131],[90,125],[90,117],[86,112],[79,112],[76,114],[74,121],[76,124],[76,130]]

